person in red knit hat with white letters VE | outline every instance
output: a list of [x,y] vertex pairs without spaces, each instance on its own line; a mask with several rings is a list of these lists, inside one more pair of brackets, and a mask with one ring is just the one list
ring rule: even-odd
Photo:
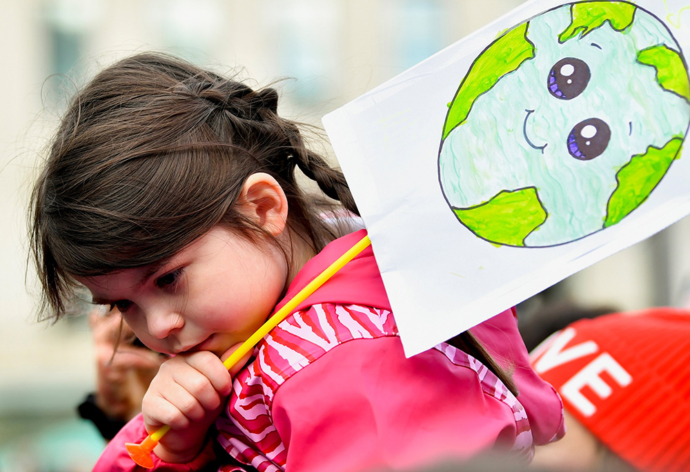
[[532,365],[562,397],[566,435],[533,464],[568,471],[690,471],[690,311],[578,320]]

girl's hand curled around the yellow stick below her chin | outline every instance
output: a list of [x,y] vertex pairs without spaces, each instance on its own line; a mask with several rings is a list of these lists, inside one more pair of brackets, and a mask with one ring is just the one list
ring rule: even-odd
[[[222,358],[228,358],[238,347],[228,349]],[[178,354],[161,365],[141,402],[146,431],[152,433],[164,424],[170,426],[153,450],[161,460],[181,464],[199,454],[209,427],[223,411],[232,391],[233,376],[249,356],[230,371],[208,351]]]

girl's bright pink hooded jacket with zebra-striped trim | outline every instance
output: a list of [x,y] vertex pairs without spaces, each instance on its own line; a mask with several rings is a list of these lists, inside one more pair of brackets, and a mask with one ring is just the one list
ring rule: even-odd
[[[310,260],[277,308],[364,234],[339,238]],[[513,311],[472,331],[513,371],[518,398],[446,343],[405,358],[373,252],[365,249],[279,323],[235,377],[216,422],[228,454],[218,470],[411,469],[493,447],[531,457],[534,444],[564,433],[560,398],[531,369]],[[139,415],[94,470],[136,470],[124,442],[145,437]],[[212,457],[208,447],[189,464],[155,460],[157,470],[191,471]]]

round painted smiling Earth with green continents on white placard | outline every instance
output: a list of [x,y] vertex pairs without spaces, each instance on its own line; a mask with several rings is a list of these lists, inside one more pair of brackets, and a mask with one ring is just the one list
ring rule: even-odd
[[680,46],[647,10],[582,1],[539,14],[484,49],[449,103],[446,202],[497,245],[615,225],[680,157],[689,89]]

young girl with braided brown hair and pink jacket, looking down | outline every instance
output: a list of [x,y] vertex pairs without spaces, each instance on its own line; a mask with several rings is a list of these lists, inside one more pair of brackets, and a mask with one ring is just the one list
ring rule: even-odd
[[[32,196],[46,309],[60,316],[85,286],[174,355],[96,470],[135,469],[124,443],[163,424],[166,470],[408,469],[492,448],[529,456],[560,437],[562,404],[529,367],[513,311],[407,359],[371,248],[226,370],[366,234],[333,223],[357,214],[345,179],[277,101],[139,54],[98,74],[61,123]],[[341,209],[304,194],[296,168]]]

